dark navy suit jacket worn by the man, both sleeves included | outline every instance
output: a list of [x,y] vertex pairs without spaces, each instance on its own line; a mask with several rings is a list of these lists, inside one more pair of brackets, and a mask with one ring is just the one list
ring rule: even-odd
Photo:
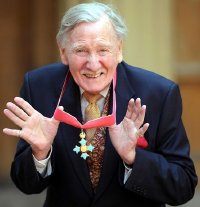
[[[68,71],[63,64],[47,65],[25,75],[21,96],[44,116],[51,117]],[[51,156],[52,174],[43,178],[33,162],[31,148],[20,140],[11,177],[27,194],[47,188],[46,207],[147,207],[182,204],[193,197],[197,177],[189,157],[189,143],[181,121],[177,85],[152,72],[122,62],[117,68],[117,123],[125,116],[130,98],[147,105],[145,134],[148,148],[136,149],[132,173],[123,184],[123,162],[106,134],[101,178],[93,193],[86,161],[73,152],[80,129],[61,123]],[[80,92],[70,80],[61,105],[82,119]]]

